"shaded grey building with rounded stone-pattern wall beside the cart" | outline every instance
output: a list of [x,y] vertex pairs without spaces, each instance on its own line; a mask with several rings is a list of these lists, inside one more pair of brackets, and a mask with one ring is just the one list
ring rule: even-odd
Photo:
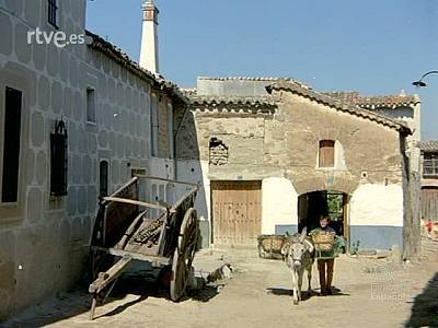
[[[132,169],[174,178],[173,113],[186,98],[85,32],[85,3],[0,0],[0,321],[83,276],[100,195]],[[79,42],[28,39],[37,30]],[[149,191],[174,197],[166,184]]]

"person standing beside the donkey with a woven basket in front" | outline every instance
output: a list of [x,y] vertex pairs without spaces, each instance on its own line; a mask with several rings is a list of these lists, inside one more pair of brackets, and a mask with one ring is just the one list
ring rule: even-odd
[[343,238],[336,236],[336,232],[328,226],[328,218],[321,215],[320,226],[310,232],[316,250],[321,296],[333,295],[332,281],[335,257],[337,257],[338,247],[345,246]]

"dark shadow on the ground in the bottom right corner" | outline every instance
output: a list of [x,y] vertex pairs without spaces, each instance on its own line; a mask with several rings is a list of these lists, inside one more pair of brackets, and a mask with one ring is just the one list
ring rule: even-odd
[[438,272],[417,295],[405,327],[438,327]]

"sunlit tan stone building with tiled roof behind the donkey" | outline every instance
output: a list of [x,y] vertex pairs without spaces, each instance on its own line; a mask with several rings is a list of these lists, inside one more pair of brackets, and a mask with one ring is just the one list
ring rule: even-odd
[[254,245],[328,214],[349,246],[415,251],[416,96],[324,94],[264,78],[198,78],[186,94],[177,171],[204,185],[205,246]]

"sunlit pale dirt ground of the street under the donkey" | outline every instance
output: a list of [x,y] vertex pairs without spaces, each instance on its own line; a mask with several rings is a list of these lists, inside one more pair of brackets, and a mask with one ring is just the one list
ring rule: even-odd
[[88,319],[87,286],[80,286],[3,327],[438,327],[438,243],[423,244],[422,260],[411,263],[336,259],[333,296],[316,295],[314,267],[313,292],[297,306],[283,261],[260,259],[249,249],[218,249],[198,254],[196,271],[229,262],[232,279],[207,285],[181,303],[169,301],[166,291],[145,279],[152,272],[136,266],[97,307],[93,321]]

